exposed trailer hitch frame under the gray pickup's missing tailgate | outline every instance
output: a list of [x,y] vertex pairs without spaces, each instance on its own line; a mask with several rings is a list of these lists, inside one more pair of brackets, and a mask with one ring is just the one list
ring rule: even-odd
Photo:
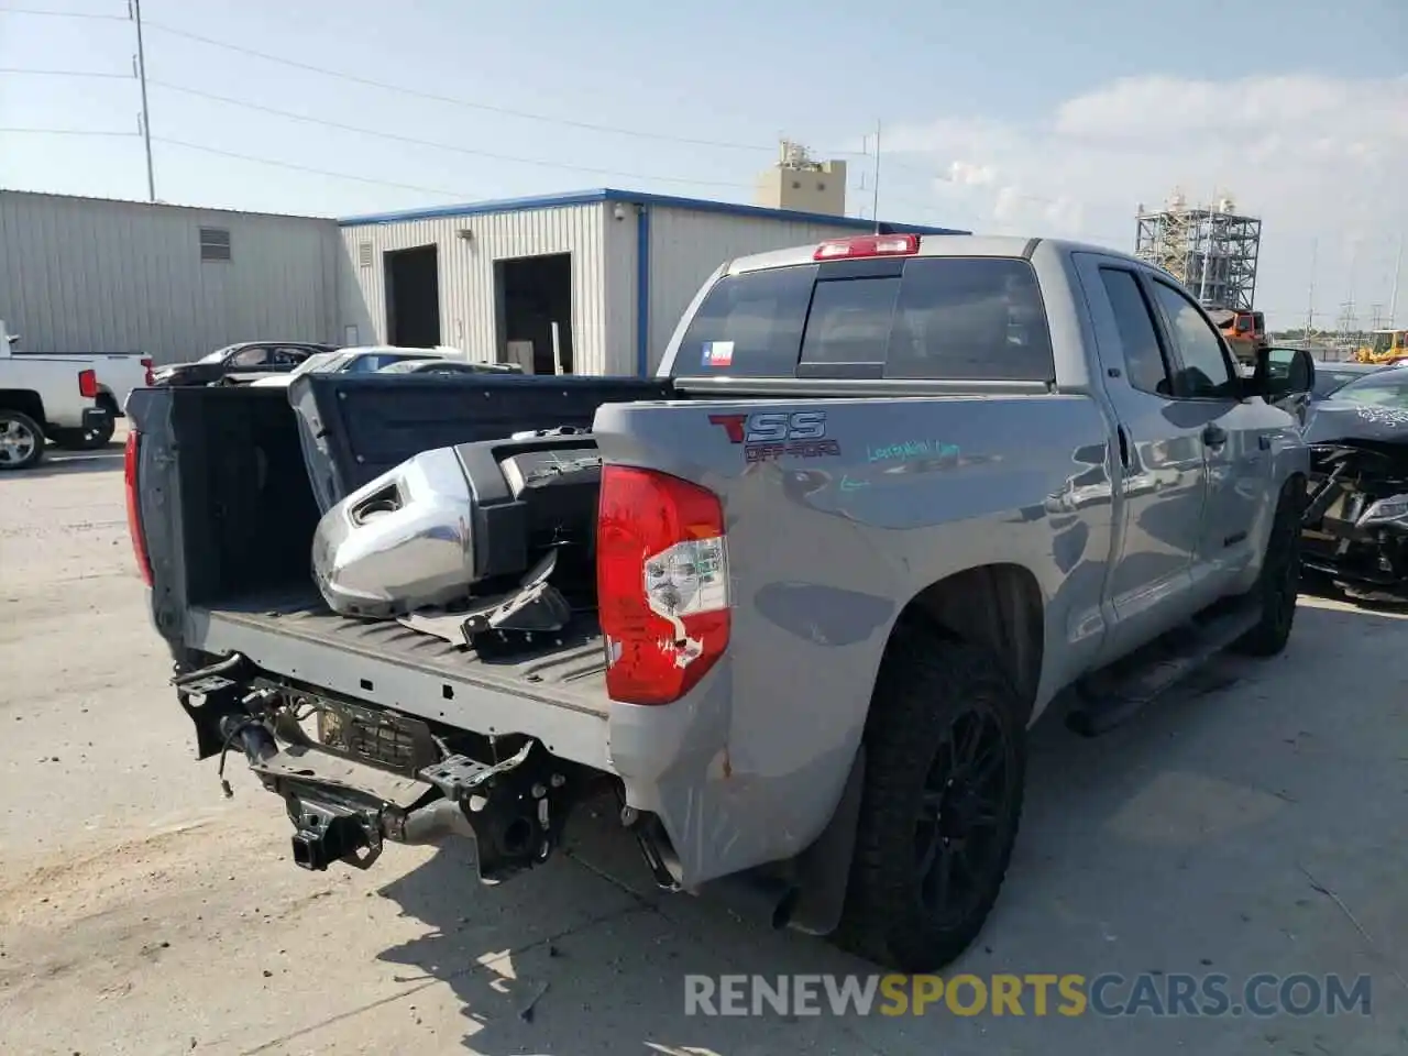
[[366,869],[387,842],[467,836],[480,881],[498,883],[548,860],[577,791],[562,760],[531,739],[494,765],[449,755],[408,774],[317,745],[280,743],[258,718],[228,715],[224,727],[265,788],[283,798],[293,860],[304,869]]

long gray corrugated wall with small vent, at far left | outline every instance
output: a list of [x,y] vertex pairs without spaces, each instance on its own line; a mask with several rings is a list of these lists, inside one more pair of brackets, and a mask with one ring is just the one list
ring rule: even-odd
[[[200,228],[230,232],[201,262]],[[337,337],[337,222],[0,191],[0,318],[27,352],[151,353]]]

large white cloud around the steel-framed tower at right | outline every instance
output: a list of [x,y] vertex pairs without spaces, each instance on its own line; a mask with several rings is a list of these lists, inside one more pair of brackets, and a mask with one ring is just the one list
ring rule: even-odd
[[[1257,303],[1281,324],[1304,318],[1312,242],[1318,321],[1350,294],[1367,321],[1371,304],[1387,308],[1408,235],[1408,76],[1131,77],[1029,124],[891,127],[886,146],[911,177],[938,173],[926,187],[936,217],[986,231],[1131,249],[1138,204],[1159,208],[1176,189],[1229,196],[1263,220]],[[1398,315],[1408,324],[1408,289]]]

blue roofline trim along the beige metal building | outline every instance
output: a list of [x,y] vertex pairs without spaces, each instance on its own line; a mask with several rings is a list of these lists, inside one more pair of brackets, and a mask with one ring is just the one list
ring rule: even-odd
[[[541,194],[528,199],[472,201],[462,206],[434,206],[431,208],[411,208],[400,213],[372,213],[363,217],[344,217],[338,220],[338,227],[400,224],[407,220],[435,220],[439,217],[477,217],[484,215],[486,213],[520,213],[531,208],[594,206],[603,201],[639,206],[667,206],[670,208],[689,210],[691,213],[715,213],[725,217],[755,217],[759,220],[793,221],[798,224],[829,224],[832,227],[848,227],[856,231],[876,230],[876,222],[873,220],[862,220],[860,217],[832,217],[824,213],[798,213],[788,208],[763,208],[762,206],[741,206],[736,201],[712,201],[710,199],[681,199],[673,194],[643,194],[641,191],[617,190],[614,187],[579,190],[567,194]],[[970,235],[973,232],[946,227],[926,227],[924,224],[897,224],[891,221],[880,221],[880,234]]]

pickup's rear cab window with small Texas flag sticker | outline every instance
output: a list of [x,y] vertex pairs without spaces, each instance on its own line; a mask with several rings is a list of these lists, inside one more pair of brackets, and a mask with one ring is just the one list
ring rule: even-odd
[[1053,382],[1055,365],[1028,260],[904,256],[725,276],[673,375]]

